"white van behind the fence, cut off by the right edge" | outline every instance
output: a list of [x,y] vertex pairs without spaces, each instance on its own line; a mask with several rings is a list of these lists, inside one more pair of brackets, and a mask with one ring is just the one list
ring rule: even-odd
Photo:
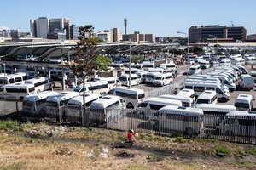
[[231,111],[219,124],[220,134],[227,136],[256,137],[256,112]]

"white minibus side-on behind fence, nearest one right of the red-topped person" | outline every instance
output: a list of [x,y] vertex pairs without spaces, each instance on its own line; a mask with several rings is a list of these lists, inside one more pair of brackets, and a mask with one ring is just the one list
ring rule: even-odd
[[173,133],[198,135],[203,130],[203,111],[201,109],[166,105],[150,117],[155,131],[172,130]]

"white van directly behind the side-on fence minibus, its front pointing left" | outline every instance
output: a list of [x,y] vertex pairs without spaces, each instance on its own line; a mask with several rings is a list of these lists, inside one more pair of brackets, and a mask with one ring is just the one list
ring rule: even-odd
[[144,99],[142,103],[137,105],[137,116],[139,116],[141,119],[148,119],[150,116],[153,116],[154,112],[160,110],[160,108],[166,105],[181,106],[182,102],[175,99],[163,99],[155,97]]

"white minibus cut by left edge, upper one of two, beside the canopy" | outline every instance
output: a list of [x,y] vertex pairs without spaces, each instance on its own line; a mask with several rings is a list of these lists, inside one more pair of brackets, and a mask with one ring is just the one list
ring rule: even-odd
[[1,75],[0,76],[0,88],[4,85],[8,84],[15,84],[17,82],[24,82],[27,80],[27,74],[25,72],[17,72],[15,74],[10,74],[10,75]]

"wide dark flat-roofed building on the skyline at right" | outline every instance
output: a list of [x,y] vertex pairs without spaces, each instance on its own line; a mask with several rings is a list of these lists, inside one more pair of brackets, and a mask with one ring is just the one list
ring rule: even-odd
[[209,38],[217,38],[218,42],[246,42],[247,31],[243,26],[191,26],[189,28],[189,43],[207,42]]

